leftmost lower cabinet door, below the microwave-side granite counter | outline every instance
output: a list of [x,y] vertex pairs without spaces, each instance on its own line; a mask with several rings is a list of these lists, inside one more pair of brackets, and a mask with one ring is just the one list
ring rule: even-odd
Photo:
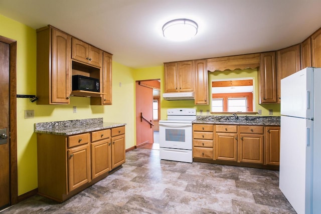
[[89,144],[68,149],[69,191],[91,181]]

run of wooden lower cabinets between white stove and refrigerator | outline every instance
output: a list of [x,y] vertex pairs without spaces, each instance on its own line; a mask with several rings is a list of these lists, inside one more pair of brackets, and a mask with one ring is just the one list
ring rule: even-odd
[[193,124],[196,161],[273,168],[279,165],[279,146],[279,126]]

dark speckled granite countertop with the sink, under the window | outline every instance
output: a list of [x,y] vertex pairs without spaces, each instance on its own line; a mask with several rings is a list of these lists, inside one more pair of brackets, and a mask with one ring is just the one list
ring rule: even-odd
[[264,125],[264,126],[279,126],[280,117],[277,116],[213,116],[213,115],[198,115],[193,123],[205,124],[227,124],[227,125]]

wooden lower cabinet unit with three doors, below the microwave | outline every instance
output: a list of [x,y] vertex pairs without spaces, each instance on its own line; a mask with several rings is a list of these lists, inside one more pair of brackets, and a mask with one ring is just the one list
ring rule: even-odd
[[[120,132],[112,137],[113,130]],[[71,136],[37,133],[37,149],[38,193],[61,202],[125,162],[125,126]]]

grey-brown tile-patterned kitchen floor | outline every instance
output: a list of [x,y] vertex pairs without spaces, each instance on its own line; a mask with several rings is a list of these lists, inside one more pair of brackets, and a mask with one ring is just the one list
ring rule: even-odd
[[139,148],[63,203],[35,195],[3,213],[296,212],[278,188],[278,171],[159,160],[158,150]]

